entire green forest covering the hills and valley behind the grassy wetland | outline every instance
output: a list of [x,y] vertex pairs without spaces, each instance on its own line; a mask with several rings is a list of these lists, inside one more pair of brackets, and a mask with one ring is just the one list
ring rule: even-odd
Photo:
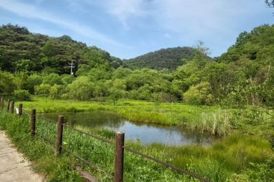
[[[114,104],[129,98],[273,107],[273,25],[240,33],[235,44],[214,59],[199,42],[191,48],[161,49],[127,60],[134,69],[107,51],[69,36],[32,34],[18,25],[0,27],[0,47],[2,94],[28,90],[54,99],[101,101],[108,96]],[[164,62],[164,57],[170,59]],[[70,75],[72,60],[75,75]]]

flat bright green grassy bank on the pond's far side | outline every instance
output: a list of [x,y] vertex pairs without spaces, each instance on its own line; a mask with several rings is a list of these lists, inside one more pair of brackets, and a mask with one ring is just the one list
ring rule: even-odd
[[23,101],[23,108],[36,112],[90,112],[108,110],[128,120],[156,122],[165,125],[184,125],[190,129],[212,131],[221,135],[230,133],[229,112],[219,107],[193,106],[182,103],[155,103],[148,101],[120,100],[116,105],[108,102],[53,100],[34,97],[34,101]]

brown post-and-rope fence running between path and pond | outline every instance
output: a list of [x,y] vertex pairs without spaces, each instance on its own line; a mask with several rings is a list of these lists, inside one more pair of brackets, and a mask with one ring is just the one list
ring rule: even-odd
[[[1,97],[1,101],[0,101],[0,107],[3,109],[4,105],[6,103],[6,110],[7,112],[10,111],[10,113],[13,114],[14,112],[14,101],[12,101],[11,103],[11,108],[10,108],[10,99],[8,101],[5,101],[3,99],[3,97]],[[115,134],[115,142],[112,142],[110,140],[106,140],[104,138],[101,138],[99,136],[96,135],[92,135],[90,133],[86,133],[84,131],[81,131],[79,129],[75,129],[73,127],[70,127],[68,125],[65,125],[64,122],[64,116],[58,116],[58,121],[56,122],[55,120],[49,120],[47,118],[43,118],[41,116],[38,116],[36,114],[36,109],[32,109],[32,112],[27,112],[25,109],[23,109],[23,104],[20,103],[18,105],[18,116],[20,117],[22,115],[22,112],[25,112],[25,114],[30,115],[31,118],[31,135],[32,137],[34,137],[34,135],[38,134],[40,135],[40,137],[45,138],[46,140],[48,140],[49,142],[56,144],[55,147],[55,153],[62,153],[62,149],[64,149],[64,151],[70,153],[71,155],[74,155],[75,157],[81,159],[82,161],[86,162],[86,164],[92,166],[93,168],[96,168],[97,170],[104,172],[106,175],[108,175],[108,177],[111,177],[112,179],[114,179],[114,182],[120,182],[123,181],[123,158],[124,158],[124,149],[127,151],[130,151],[132,153],[135,153],[137,155],[140,155],[142,157],[145,157],[147,159],[150,159],[152,161],[158,162],[159,164],[162,164],[164,166],[167,166],[169,168],[173,168],[179,172],[183,172],[184,174],[188,174],[191,177],[195,177],[196,179],[199,179],[201,181],[206,181],[206,182],[211,182],[209,179],[205,179],[201,176],[199,176],[198,174],[195,174],[193,172],[189,172],[187,170],[184,170],[182,168],[177,168],[176,166],[173,166],[171,164],[168,164],[164,161],[160,161],[159,159],[155,159],[149,155],[145,155],[144,153],[140,153],[138,151],[133,150],[132,148],[128,148],[127,146],[124,146],[124,141],[125,141],[125,133],[117,131]],[[40,118],[42,120],[47,120],[49,122],[53,122],[57,125],[57,133],[56,133],[56,141],[53,141],[49,138],[47,138],[45,135],[42,135],[42,133],[38,133],[38,131],[36,131],[36,118]],[[79,133],[83,133],[85,135],[88,135],[92,138],[96,138],[97,140],[101,140],[103,142],[108,142],[109,144],[113,144],[115,146],[115,159],[114,159],[114,176],[108,172],[105,172],[103,169],[99,168],[98,166],[96,166],[95,164],[92,164],[90,161],[87,161],[86,159],[84,159],[83,157],[73,153],[73,151],[70,151],[68,148],[62,146],[62,137],[63,137],[63,127],[66,127],[68,129],[72,129],[74,131],[77,131]],[[90,179],[91,181],[91,179]]]

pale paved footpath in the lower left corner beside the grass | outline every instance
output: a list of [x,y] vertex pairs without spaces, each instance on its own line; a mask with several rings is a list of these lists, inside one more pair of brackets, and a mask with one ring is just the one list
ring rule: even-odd
[[12,147],[5,131],[0,131],[0,182],[39,182],[45,181],[29,168],[29,162]]

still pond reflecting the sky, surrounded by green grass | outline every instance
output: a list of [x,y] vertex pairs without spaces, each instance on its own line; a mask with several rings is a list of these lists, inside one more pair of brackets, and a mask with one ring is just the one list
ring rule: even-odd
[[45,118],[58,120],[64,116],[64,122],[84,127],[106,127],[114,131],[125,132],[125,140],[140,140],[141,144],[159,142],[163,144],[201,144],[209,146],[219,138],[210,133],[189,131],[180,126],[159,125],[147,122],[132,122],[112,112],[51,113]]

